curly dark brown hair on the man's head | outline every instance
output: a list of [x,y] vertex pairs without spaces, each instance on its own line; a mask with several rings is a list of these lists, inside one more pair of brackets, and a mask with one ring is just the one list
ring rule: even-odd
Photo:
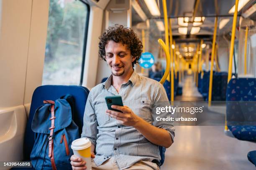
[[131,28],[125,28],[123,25],[119,25],[117,27],[109,27],[102,36],[99,37],[99,57],[102,60],[105,60],[105,46],[108,41],[113,40],[114,42],[118,43],[121,42],[123,45],[127,45],[128,49],[131,51],[131,55],[136,57],[133,61],[134,64],[138,63],[138,60],[141,57],[142,52],[142,43],[138,39],[137,34]]

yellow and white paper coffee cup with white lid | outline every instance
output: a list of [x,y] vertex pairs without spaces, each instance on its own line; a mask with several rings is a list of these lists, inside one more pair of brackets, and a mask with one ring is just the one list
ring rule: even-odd
[[74,155],[86,161],[87,170],[92,170],[91,145],[87,138],[76,139],[71,145]]

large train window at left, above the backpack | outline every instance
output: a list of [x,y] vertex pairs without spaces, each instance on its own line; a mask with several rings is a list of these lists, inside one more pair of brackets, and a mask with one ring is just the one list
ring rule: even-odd
[[50,0],[43,85],[81,85],[89,6],[80,0]]

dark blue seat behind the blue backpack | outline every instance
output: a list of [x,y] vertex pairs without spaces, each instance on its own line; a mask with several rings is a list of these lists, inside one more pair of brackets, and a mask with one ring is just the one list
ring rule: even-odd
[[[59,97],[71,94],[74,97],[74,117],[73,120],[79,127],[79,133],[82,133],[84,108],[89,94],[89,90],[82,86],[66,86],[66,85],[43,85],[37,87],[33,92],[31,107],[26,125],[26,132],[24,138],[24,160],[30,160],[30,153],[34,144],[34,133],[31,130],[31,123],[33,120],[36,108],[43,104],[43,100],[56,100]],[[16,168],[15,168],[16,169]]]

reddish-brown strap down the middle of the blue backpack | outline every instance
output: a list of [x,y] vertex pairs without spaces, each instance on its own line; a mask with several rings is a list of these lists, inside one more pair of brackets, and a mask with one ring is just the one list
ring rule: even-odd
[[51,103],[51,127],[49,128],[50,130],[50,135],[48,137],[48,141],[49,141],[49,158],[51,158],[51,167],[53,170],[57,170],[56,165],[55,165],[55,161],[54,161],[54,142],[53,142],[53,133],[54,133],[54,120],[56,119],[55,117],[55,113],[54,113],[54,104],[55,102],[52,100],[44,100],[44,103]]

